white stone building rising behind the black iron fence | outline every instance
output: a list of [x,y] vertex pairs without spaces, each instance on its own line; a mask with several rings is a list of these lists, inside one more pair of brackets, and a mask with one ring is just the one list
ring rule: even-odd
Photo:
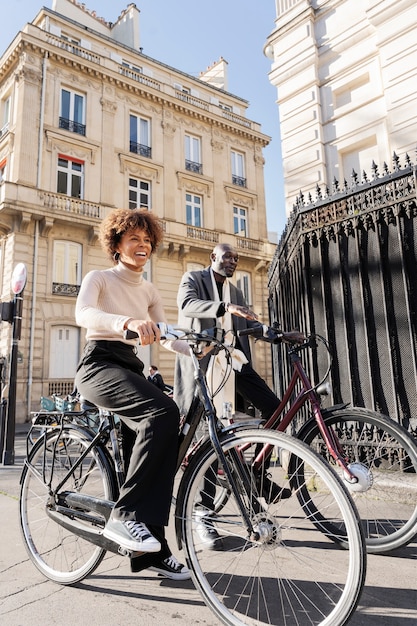
[[296,196],[372,175],[417,145],[413,0],[276,0],[264,52],[278,91],[287,215]]

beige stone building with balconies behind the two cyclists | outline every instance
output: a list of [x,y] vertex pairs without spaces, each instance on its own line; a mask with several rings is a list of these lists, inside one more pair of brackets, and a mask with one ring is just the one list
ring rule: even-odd
[[[227,91],[220,59],[198,78],[144,55],[134,4],[114,23],[75,0],[54,0],[0,59],[0,285],[8,301],[17,263],[28,271],[19,342],[16,420],[41,395],[71,391],[84,332],[74,320],[82,277],[108,261],[97,241],[113,207],[146,207],[164,243],[148,276],[167,317],[189,268],[204,267],[217,242],[240,255],[236,276],[268,319],[268,242],[263,148],[269,137]],[[0,325],[0,354],[11,327]],[[254,349],[272,383],[268,346]],[[173,355],[152,347],[167,383]],[[7,381],[6,381],[7,382]]]

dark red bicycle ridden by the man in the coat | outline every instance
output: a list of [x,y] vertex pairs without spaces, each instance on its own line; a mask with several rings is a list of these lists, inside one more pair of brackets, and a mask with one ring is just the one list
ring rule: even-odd
[[[261,324],[243,333],[270,343],[282,337],[277,327]],[[329,354],[329,366],[322,380],[313,384],[300,355],[318,342]],[[385,553],[407,545],[417,533],[417,442],[403,426],[375,411],[347,404],[323,409],[318,390],[324,388],[331,368],[327,341],[311,335],[300,344],[287,345],[292,378],[264,427],[286,431],[307,405],[310,418],[292,434],[338,470],[358,508],[368,552]],[[321,523],[332,526],[330,518]],[[343,543],[343,533],[334,529],[332,536]]]

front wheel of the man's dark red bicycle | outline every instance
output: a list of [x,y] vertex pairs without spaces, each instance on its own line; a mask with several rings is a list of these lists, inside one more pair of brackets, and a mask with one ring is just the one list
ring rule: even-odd
[[[407,545],[417,533],[416,442],[398,423],[368,409],[327,409],[323,418],[356,464],[360,485],[344,483],[361,517],[367,551],[383,554]],[[297,437],[335,466],[314,419]],[[335,469],[342,477],[342,470]],[[329,530],[329,523],[325,527]],[[344,543],[340,529],[339,535],[335,528],[330,531]]]

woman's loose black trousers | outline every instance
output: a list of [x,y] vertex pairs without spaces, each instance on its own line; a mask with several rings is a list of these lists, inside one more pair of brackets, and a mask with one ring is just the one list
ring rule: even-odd
[[75,383],[86,400],[120,416],[124,437],[129,430],[134,433],[126,441],[130,459],[113,516],[167,526],[178,450],[177,405],[146,380],[142,361],[122,342],[89,341]]

